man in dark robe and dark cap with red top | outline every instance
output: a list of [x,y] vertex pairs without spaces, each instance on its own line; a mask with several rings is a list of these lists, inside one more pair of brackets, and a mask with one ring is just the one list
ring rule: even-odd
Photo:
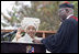
[[78,19],[74,15],[74,4],[60,4],[58,15],[63,23],[57,33],[33,42],[43,43],[52,53],[78,53]]

